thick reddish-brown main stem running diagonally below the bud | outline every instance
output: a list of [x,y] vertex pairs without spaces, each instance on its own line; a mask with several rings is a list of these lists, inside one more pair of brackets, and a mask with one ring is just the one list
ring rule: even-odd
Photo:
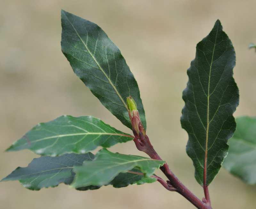
[[[133,139],[138,150],[145,152],[150,158],[156,160],[162,160],[160,156],[156,153],[153,146],[151,145],[147,135],[143,135],[142,132],[139,133],[139,138]],[[164,175],[169,179],[169,185],[176,189],[183,197],[185,197],[189,202],[195,205],[199,209],[212,209],[211,205],[204,203],[199,198],[197,198],[188,188],[180,182],[180,180],[172,173],[167,163],[160,167]]]

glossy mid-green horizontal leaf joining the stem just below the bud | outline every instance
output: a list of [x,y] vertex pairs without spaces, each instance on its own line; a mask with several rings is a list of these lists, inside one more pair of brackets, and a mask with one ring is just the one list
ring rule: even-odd
[[110,147],[133,137],[118,131],[92,116],[61,116],[48,123],[39,123],[7,151],[29,149],[40,155],[87,153],[98,146]]

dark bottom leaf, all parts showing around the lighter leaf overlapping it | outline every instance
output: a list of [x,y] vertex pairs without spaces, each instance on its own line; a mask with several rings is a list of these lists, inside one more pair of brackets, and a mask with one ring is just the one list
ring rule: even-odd
[[[42,188],[56,187],[60,183],[70,184],[73,182],[75,173],[72,169],[81,166],[84,161],[94,159],[92,153],[86,154],[64,154],[58,157],[43,156],[35,158],[26,168],[16,168],[3,181],[19,180],[21,185],[30,190],[40,190]],[[126,173],[119,173],[111,182],[106,185],[113,187],[126,187],[129,184],[153,183],[156,178],[147,178],[139,169],[132,169]],[[100,186],[88,185],[77,188],[77,190],[95,190]]]

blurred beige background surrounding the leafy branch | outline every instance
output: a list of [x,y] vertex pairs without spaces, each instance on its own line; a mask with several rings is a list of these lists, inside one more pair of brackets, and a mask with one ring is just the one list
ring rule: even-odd
[[[148,135],[173,172],[203,197],[181,129],[186,71],[196,43],[220,19],[236,50],[234,77],[240,89],[236,116],[256,115],[256,1],[118,1],[1,0],[0,2],[0,178],[37,157],[28,150],[5,153],[12,142],[38,122],[60,115],[93,115],[125,128],[73,73],[60,49],[60,9],[97,23],[116,43],[140,87]],[[133,142],[111,151],[140,154]],[[144,155],[145,156],[145,155]],[[160,173],[159,173],[160,174]],[[213,208],[255,208],[256,186],[220,170],[209,187]],[[155,209],[194,208],[160,184],[76,191],[64,184],[30,191],[19,182],[0,183],[1,209]]]

